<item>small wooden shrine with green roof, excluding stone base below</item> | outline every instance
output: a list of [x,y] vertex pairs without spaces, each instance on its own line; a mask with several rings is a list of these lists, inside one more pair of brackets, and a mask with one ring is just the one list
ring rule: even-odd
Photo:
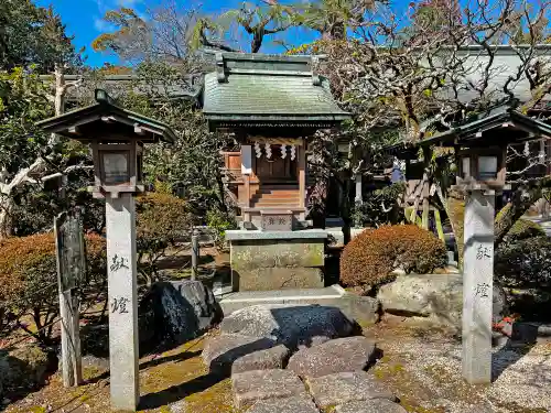
[[305,138],[349,118],[315,64],[314,56],[217,53],[217,69],[206,75],[209,128],[234,133],[240,144],[239,152],[225,153],[225,166],[245,228],[267,230],[262,222],[273,220],[262,217],[273,215],[292,219],[272,229],[303,227]]

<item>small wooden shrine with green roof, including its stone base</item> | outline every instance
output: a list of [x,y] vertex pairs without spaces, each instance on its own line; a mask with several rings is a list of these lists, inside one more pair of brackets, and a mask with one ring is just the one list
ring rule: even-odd
[[350,116],[315,66],[314,56],[216,53],[205,77],[209,129],[239,144],[225,153],[242,219],[226,231],[233,291],[324,286],[327,231],[305,222],[306,138]]

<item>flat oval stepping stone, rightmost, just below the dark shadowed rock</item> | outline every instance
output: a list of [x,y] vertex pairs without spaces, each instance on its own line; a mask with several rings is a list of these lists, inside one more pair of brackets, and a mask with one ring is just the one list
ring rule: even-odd
[[375,357],[375,343],[366,337],[345,337],[303,348],[289,360],[288,369],[300,377],[321,377],[364,370]]

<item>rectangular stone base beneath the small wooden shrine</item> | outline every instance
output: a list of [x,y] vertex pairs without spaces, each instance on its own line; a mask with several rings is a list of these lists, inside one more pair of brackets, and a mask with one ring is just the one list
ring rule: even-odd
[[227,231],[234,291],[324,286],[324,230]]

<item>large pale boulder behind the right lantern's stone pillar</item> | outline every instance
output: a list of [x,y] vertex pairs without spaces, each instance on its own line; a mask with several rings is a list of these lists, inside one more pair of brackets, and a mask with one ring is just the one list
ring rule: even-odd
[[[398,315],[432,317],[443,324],[460,326],[463,312],[462,274],[408,274],[382,285],[377,295],[385,312]],[[494,286],[494,316],[506,308],[503,289]]]

